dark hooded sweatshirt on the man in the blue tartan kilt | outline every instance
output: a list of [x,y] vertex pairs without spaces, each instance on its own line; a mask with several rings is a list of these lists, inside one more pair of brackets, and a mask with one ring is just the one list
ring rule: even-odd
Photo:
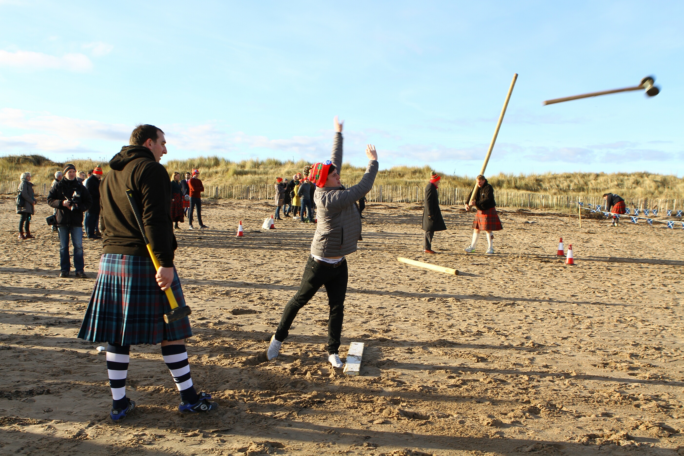
[[147,256],[126,190],[133,198],[152,250],[163,267],[173,267],[176,237],[171,223],[171,188],[166,168],[145,146],[124,146],[109,161],[100,185],[105,254]]

